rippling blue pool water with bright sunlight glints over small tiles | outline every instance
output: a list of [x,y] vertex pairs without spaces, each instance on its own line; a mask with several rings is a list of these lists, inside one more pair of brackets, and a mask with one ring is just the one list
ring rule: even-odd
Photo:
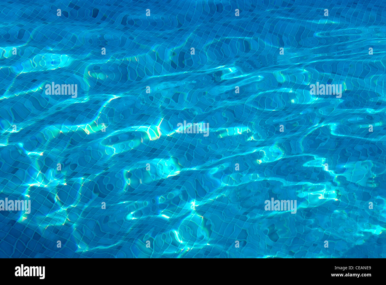
[[0,257],[386,257],[385,7],[0,3]]

